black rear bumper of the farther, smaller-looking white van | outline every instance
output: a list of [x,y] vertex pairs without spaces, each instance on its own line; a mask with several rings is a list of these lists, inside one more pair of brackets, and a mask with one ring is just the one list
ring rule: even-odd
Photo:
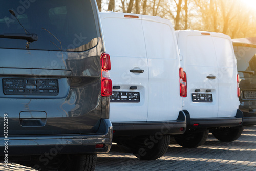
[[227,118],[190,118],[189,113],[186,110],[184,111],[187,117],[187,129],[236,127],[243,124],[243,112],[239,109],[236,116]]

